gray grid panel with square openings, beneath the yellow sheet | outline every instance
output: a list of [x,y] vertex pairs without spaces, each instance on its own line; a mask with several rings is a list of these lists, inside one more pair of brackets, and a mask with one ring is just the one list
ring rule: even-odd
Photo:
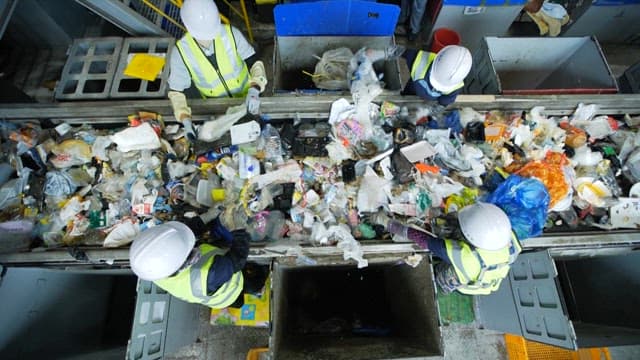
[[[120,52],[118,68],[111,86],[111,98],[163,98],[167,94],[169,79],[169,56],[176,40],[172,37],[126,38]],[[152,54],[165,57],[167,64],[154,81],[133,78],[124,74],[131,56]]]

